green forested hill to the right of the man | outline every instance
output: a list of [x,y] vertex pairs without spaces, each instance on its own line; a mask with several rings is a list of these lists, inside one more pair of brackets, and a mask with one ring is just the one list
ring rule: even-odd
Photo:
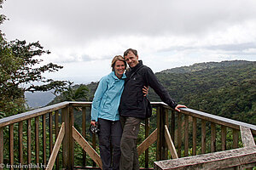
[[[188,69],[179,73],[183,68]],[[161,71],[156,76],[173,99],[189,108],[256,124],[255,61],[201,63]],[[153,90],[148,97],[160,101]]]

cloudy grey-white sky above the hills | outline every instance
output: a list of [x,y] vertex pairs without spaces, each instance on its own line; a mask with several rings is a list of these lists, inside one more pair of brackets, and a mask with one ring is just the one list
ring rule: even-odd
[[46,77],[96,82],[127,48],[154,72],[200,62],[256,60],[255,0],[7,0],[6,38],[39,41]]

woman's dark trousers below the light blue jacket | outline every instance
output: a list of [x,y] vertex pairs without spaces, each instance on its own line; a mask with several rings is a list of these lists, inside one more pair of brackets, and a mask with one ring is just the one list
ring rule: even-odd
[[[100,133],[99,145],[102,158],[103,170],[119,170],[119,161],[121,156],[120,140],[122,127],[119,121],[108,121],[99,119]],[[111,160],[110,146],[113,145],[113,160]],[[113,166],[112,163],[113,162]]]

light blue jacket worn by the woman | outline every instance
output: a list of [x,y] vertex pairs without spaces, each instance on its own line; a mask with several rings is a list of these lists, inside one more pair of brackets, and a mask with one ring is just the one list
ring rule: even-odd
[[115,76],[114,71],[99,82],[91,105],[91,120],[98,118],[110,121],[119,120],[119,103],[125,86],[125,74],[120,79]]

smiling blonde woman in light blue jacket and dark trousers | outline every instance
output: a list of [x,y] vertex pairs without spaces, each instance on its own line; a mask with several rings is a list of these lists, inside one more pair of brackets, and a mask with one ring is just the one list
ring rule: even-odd
[[[125,85],[126,62],[121,55],[113,58],[112,72],[99,82],[91,106],[91,122],[93,126],[99,126],[99,146],[102,158],[103,170],[119,170],[119,158],[121,156],[120,140],[122,127],[119,122],[119,102]],[[143,89],[148,94],[147,88]],[[113,159],[110,145],[113,146]]]

